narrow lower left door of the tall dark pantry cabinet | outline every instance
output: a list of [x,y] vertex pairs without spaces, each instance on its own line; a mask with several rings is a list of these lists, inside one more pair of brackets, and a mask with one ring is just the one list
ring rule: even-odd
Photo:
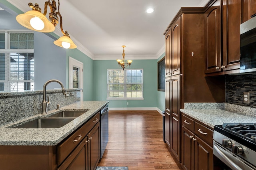
[[171,147],[171,78],[165,80],[165,142]]

